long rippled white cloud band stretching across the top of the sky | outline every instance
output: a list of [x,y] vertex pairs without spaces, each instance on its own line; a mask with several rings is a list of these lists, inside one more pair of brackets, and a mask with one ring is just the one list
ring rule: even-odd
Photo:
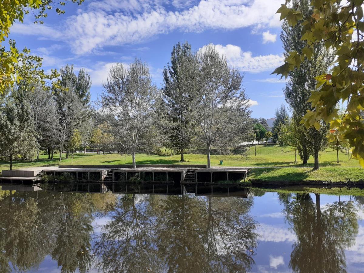
[[[15,24],[11,31],[67,41],[76,54],[85,54],[104,46],[140,43],[176,30],[202,32],[244,27],[256,30],[281,24],[275,14],[281,0],[201,0],[193,7],[184,6],[184,10],[174,12],[167,11],[159,2],[165,3],[162,0],[94,1],[86,12],[79,11],[59,24],[59,31],[33,24]],[[172,3],[180,4],[181,1]]]

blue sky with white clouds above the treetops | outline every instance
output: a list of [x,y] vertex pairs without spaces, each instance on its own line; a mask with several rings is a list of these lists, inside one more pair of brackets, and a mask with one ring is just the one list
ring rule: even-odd
[[102,93],[110,67],[145,61],[153,82],[163,85],[162,70],[178,42],[198,51],[213,43],[230,66],[244,73],[242,86],[254,118],[272,118],[282,103],[284,79],[270,75],[284,63],[281,23],[275,14],[283,0],[85,0],[68,3],[65,14],[48,12],[33,24],[32,12],[15,23],[9,38],[43,58],[49,72],[68,64],[91,76],[91,99]]

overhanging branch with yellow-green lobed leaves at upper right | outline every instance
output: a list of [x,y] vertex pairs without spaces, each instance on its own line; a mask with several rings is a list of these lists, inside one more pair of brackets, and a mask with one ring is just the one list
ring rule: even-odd
[[[320,120],[331,124],[333,141],[349,142],[354,147],[353,157],[364,166],[364,21],[363,0],[333,1],[312,0],[311,16],[302,19],[300,2],[287,0],[277,13],[290,26],[302,25],[301,40],[306,46],[286,55],[285,63],[272,74],[287,78],[290,71],[310,60],[314,46],[322,44],[327,50],[336,52],[336,60],[330,74],[315,77],[316,88],[311,91],[308,111],[301,123],[320,128]],[[343,117],[339,119],[338,103],[345,104]]]

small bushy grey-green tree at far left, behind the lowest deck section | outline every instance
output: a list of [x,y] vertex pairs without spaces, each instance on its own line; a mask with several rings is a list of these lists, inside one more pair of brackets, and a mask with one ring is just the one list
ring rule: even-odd
[[17,91],[0,104],[0,155],[9,158],[10,170],[18,155],[31,159],[37,149],[33,116],[29,104]]

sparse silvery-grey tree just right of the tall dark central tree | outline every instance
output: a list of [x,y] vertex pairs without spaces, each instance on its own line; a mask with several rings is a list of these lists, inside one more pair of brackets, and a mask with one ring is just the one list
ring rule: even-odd
[[[199,140],[206,145],[207,167],[211,167],[210,152],[237,146],[250,135],[250,111],[244,75],[227,66],[225,56],[209,44],[199,53],[199,84],[194,94],[191,117],[199,127]],[[250,127],[251,128],[251,127]]]

